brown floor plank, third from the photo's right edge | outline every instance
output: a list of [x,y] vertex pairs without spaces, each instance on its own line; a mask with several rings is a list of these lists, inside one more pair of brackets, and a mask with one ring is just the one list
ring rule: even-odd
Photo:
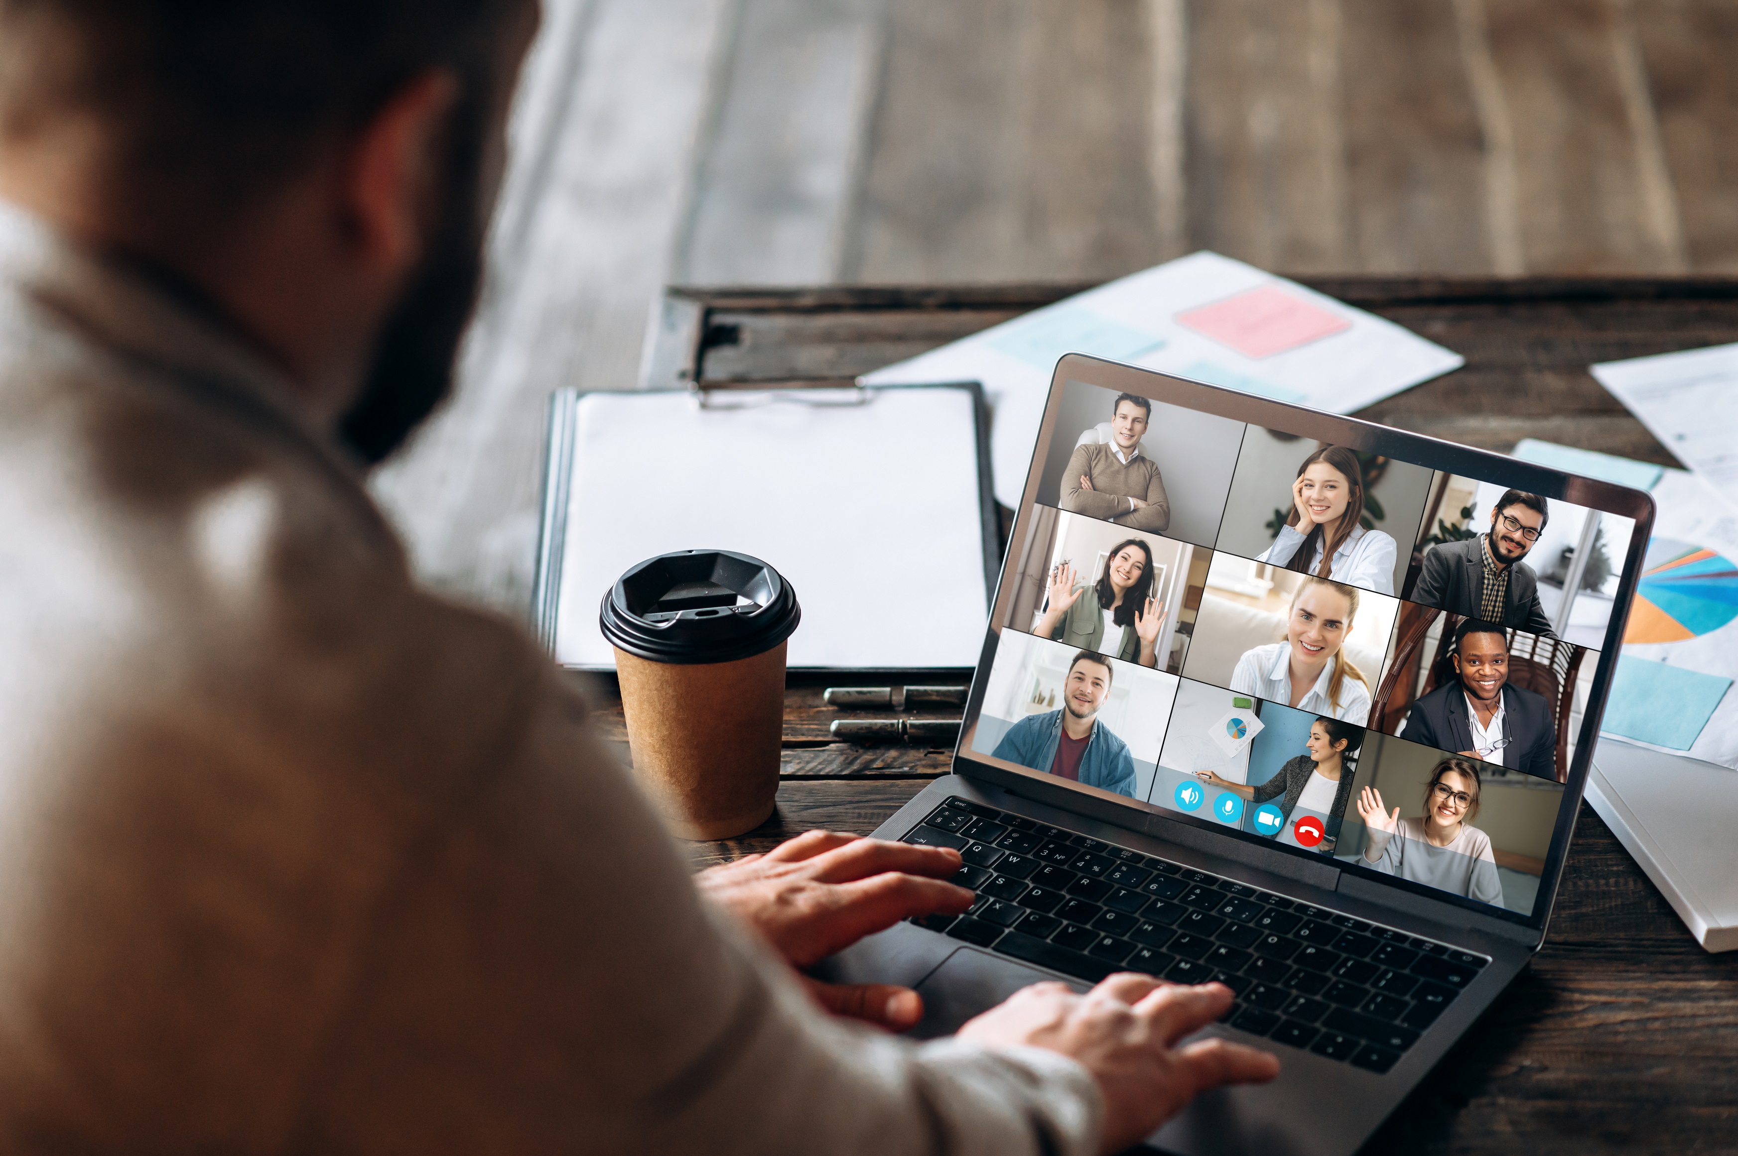
[[1368,271],[1493,269],[1486,153],[1453,0],[1343,0],[1350,260]]

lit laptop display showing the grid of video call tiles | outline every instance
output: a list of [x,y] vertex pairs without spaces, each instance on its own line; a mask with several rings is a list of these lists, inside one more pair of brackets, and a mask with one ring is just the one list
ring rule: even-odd
[[1543,918],[1635,519],[1093,365],[1058,366],[961,755]]

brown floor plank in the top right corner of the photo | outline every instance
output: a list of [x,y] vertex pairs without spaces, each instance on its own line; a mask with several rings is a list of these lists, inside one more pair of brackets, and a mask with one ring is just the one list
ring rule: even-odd
[[1693,269],[1738,269],[1738,7],[1634,0],[1662,148]]

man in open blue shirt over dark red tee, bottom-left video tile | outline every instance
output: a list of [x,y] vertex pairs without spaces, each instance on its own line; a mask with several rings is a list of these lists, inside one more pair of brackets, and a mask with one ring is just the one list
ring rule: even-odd
[[1128,743],[1098,724],[1098,708],[1109,696],[1111,663],[1079,651],[1062,682],[1062,706],[1020,719],[991,753],[1071,783],[1133,797],[1135,760]]

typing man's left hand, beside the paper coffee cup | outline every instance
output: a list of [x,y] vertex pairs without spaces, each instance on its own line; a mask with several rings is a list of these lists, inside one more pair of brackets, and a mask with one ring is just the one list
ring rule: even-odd
[[[942,882],[959,863],[959,852],[945,847],[808,831],[763,856],[707,868],[693,882],[702,896],[760,932],[791,967],[803,969],[904,918],[965,911],[972,892]],[[895,1031],[923,1017],[923,1000],[909,988],[803,979],[836,1015]]]

